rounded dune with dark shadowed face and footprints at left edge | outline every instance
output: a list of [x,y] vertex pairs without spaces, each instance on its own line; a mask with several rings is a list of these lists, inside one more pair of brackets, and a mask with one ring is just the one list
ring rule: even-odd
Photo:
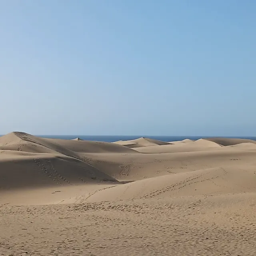
[[49,154],[0,158],[0,188],[70,186],[117,180],[75,158]]

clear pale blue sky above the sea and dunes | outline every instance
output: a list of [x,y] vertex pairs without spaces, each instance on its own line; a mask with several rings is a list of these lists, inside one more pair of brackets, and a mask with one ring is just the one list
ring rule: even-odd
[[256,136],[256,1],[0,0],[0,134]]

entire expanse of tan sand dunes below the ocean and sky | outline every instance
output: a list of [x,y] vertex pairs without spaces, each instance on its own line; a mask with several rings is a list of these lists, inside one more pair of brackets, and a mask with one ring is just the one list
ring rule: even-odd
[[256,141],[0,137],[0,255],[256,255]]

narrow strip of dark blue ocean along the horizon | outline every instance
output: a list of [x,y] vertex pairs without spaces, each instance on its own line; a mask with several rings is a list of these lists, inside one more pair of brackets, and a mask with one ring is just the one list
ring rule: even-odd
[[[216,136],[104,136],[104,135],[36,135],[38,137],[42,138],[54,138],[54,139],[64,139],[64,140],[72,140],[74,138],[80,138],[82,140],[92,140],[92,141],[104,141],[104,142],[114,142],[118,140],[134,140],[140,137],[146,137],[146,138],[152,138],[155,140],[162,140],[165,142],[168,141],[178,141],[178,140],[184,140],[184,139],[190,139],[190,140],[198,140],[200,138],[216,138]],[[220,136],[218,136],[220,137]],[[243,138],[243,139],[250,139],[250,140],[256,140],[256,137],[224,137],[224,138]]]

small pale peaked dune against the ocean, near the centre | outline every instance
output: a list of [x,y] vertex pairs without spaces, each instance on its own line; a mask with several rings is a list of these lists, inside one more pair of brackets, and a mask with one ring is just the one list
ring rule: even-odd
[[148,147],[148,146],[157,146],[157,145],[170,145],[169,142],[164,142],[161,140],[154,140],[150,138],[141,137],[135,140],[119,140],[113,142],[115,144],[123,145],[128,148],[139,148],[139,147]]

